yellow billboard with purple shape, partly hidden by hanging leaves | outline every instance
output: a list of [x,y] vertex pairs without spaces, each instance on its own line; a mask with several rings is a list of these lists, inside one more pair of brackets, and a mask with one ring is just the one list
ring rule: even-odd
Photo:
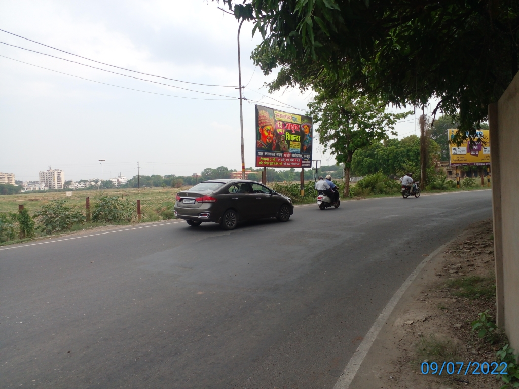
[[[458,132],[456,129],[448,129],[449,141],[454,138]],[[483,142],[467,140],[466,143],[461,144],[460,147],[456,145],[449,145],[450,165],[465,166],[465,165],[489,165],[490,164],[490,137],[488,130],[477,131],[477,136]]]

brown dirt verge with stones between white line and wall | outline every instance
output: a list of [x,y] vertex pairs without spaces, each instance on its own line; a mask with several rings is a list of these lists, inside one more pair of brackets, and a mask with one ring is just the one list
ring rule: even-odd
[[[492,221],[476,223],[422,269],[380,331],[350,388],[499,388],[490,374],[422,374],[421,363],[494,362],[497,344],[479,339],[471,323],[495,319]],[[455,365],[455,372],[458,366]],[[465,370],[465,369],[463,369]]]

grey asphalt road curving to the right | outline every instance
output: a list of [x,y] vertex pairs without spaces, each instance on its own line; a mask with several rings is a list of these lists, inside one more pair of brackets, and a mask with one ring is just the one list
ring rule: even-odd
[[0,387],[332,388],[418,263],[490,191],[297,206],[0,249]]

